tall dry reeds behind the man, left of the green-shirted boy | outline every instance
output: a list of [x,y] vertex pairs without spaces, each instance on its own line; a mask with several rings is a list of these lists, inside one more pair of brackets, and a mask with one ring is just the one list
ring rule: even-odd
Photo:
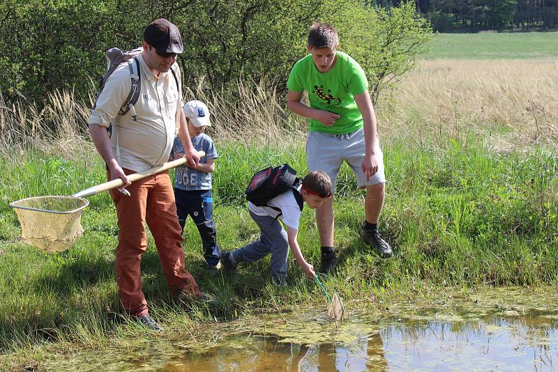
[[[48,95],[43,109],[26,100],[5,102],[0,93],[0,154],[42,150],[71,157],[76,150],[89,146],[87,121],[93,97],[77,101],[72,91]],[[211,111],[209,132],[217,141],[245,141],[271,144],[285,137],[303,138],[306,121],[291,115],[282,104],[275,84],[239,82],[234,91],[206,91],[204,81],[186,88],[185,100],[202,100]]]

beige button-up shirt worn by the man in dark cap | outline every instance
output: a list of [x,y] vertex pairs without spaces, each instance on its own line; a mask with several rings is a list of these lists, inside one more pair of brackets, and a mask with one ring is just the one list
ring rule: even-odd
[[[96,108],[91,110],[89,124],[108,127],[113,123],[110,139],[116,161],[122,168],[139,172],[169,159],[182,97],[170,70],[156,77],[141,55],[136,58],[142,86],[134,104],[137,121],[133,121],[130,111],[123,116],[118,114],[132,86],[128,63],[121,63],[107,79]],[[177,77],[180,82],[180,75]]]

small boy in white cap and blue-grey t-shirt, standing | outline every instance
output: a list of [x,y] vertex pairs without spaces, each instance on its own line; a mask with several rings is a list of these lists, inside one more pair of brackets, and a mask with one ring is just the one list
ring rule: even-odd
[[[197,166],[183,165],[176,167],[174,178],[174,199],[176,199],[176,213],[184,231],[186,218],[192,217],[202,237],[204,258],[207,267],[219,270],[220,249],[217,245],[216,229],[213,224],[213,194],[211,193],[211,172],[215,169],[213,160],[217,158],[217,150],[213,140],[204,134],[206,127],[211,126],[209,109],[197,100],[187,102],[183,107],[188,134],[192,145],[197,151],[204,151],[205,156],[199,160]],[[170,158],[182,157],[184,148],[176,137],[170,153]]]

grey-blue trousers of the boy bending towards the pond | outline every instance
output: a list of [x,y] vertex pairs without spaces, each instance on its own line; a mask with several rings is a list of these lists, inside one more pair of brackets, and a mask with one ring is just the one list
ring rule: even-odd
[[232,251],[232,258],[236,263],[255,262],[271,252],[271,277],[285,279],[287,277],[287,256],[289,256],[287,231],[277,219],[249,212],[250,217],[259,226],[259,239]]

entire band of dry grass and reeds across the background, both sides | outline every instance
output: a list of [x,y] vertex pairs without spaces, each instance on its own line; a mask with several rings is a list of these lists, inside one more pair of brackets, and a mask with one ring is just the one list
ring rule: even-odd
[[[306,119],[291,114],[270,81],[239,82],[234,91],[207,91],[204,81],[185,100],[203,100],[216,141],[284,144],[303,141]],[[0,152],[31,146],[70,156],[88,139],[91,102],[71,91],[50,94],[45,108],[8,105],[0,95]],[[558,139],[558,61],[420,61],[397,89],[376,104],[382,142],[466,139],[471,131],[495,150]],[[19,147],[18,147],[19,146]],[[87,145],[86,145],[87,146]]]

